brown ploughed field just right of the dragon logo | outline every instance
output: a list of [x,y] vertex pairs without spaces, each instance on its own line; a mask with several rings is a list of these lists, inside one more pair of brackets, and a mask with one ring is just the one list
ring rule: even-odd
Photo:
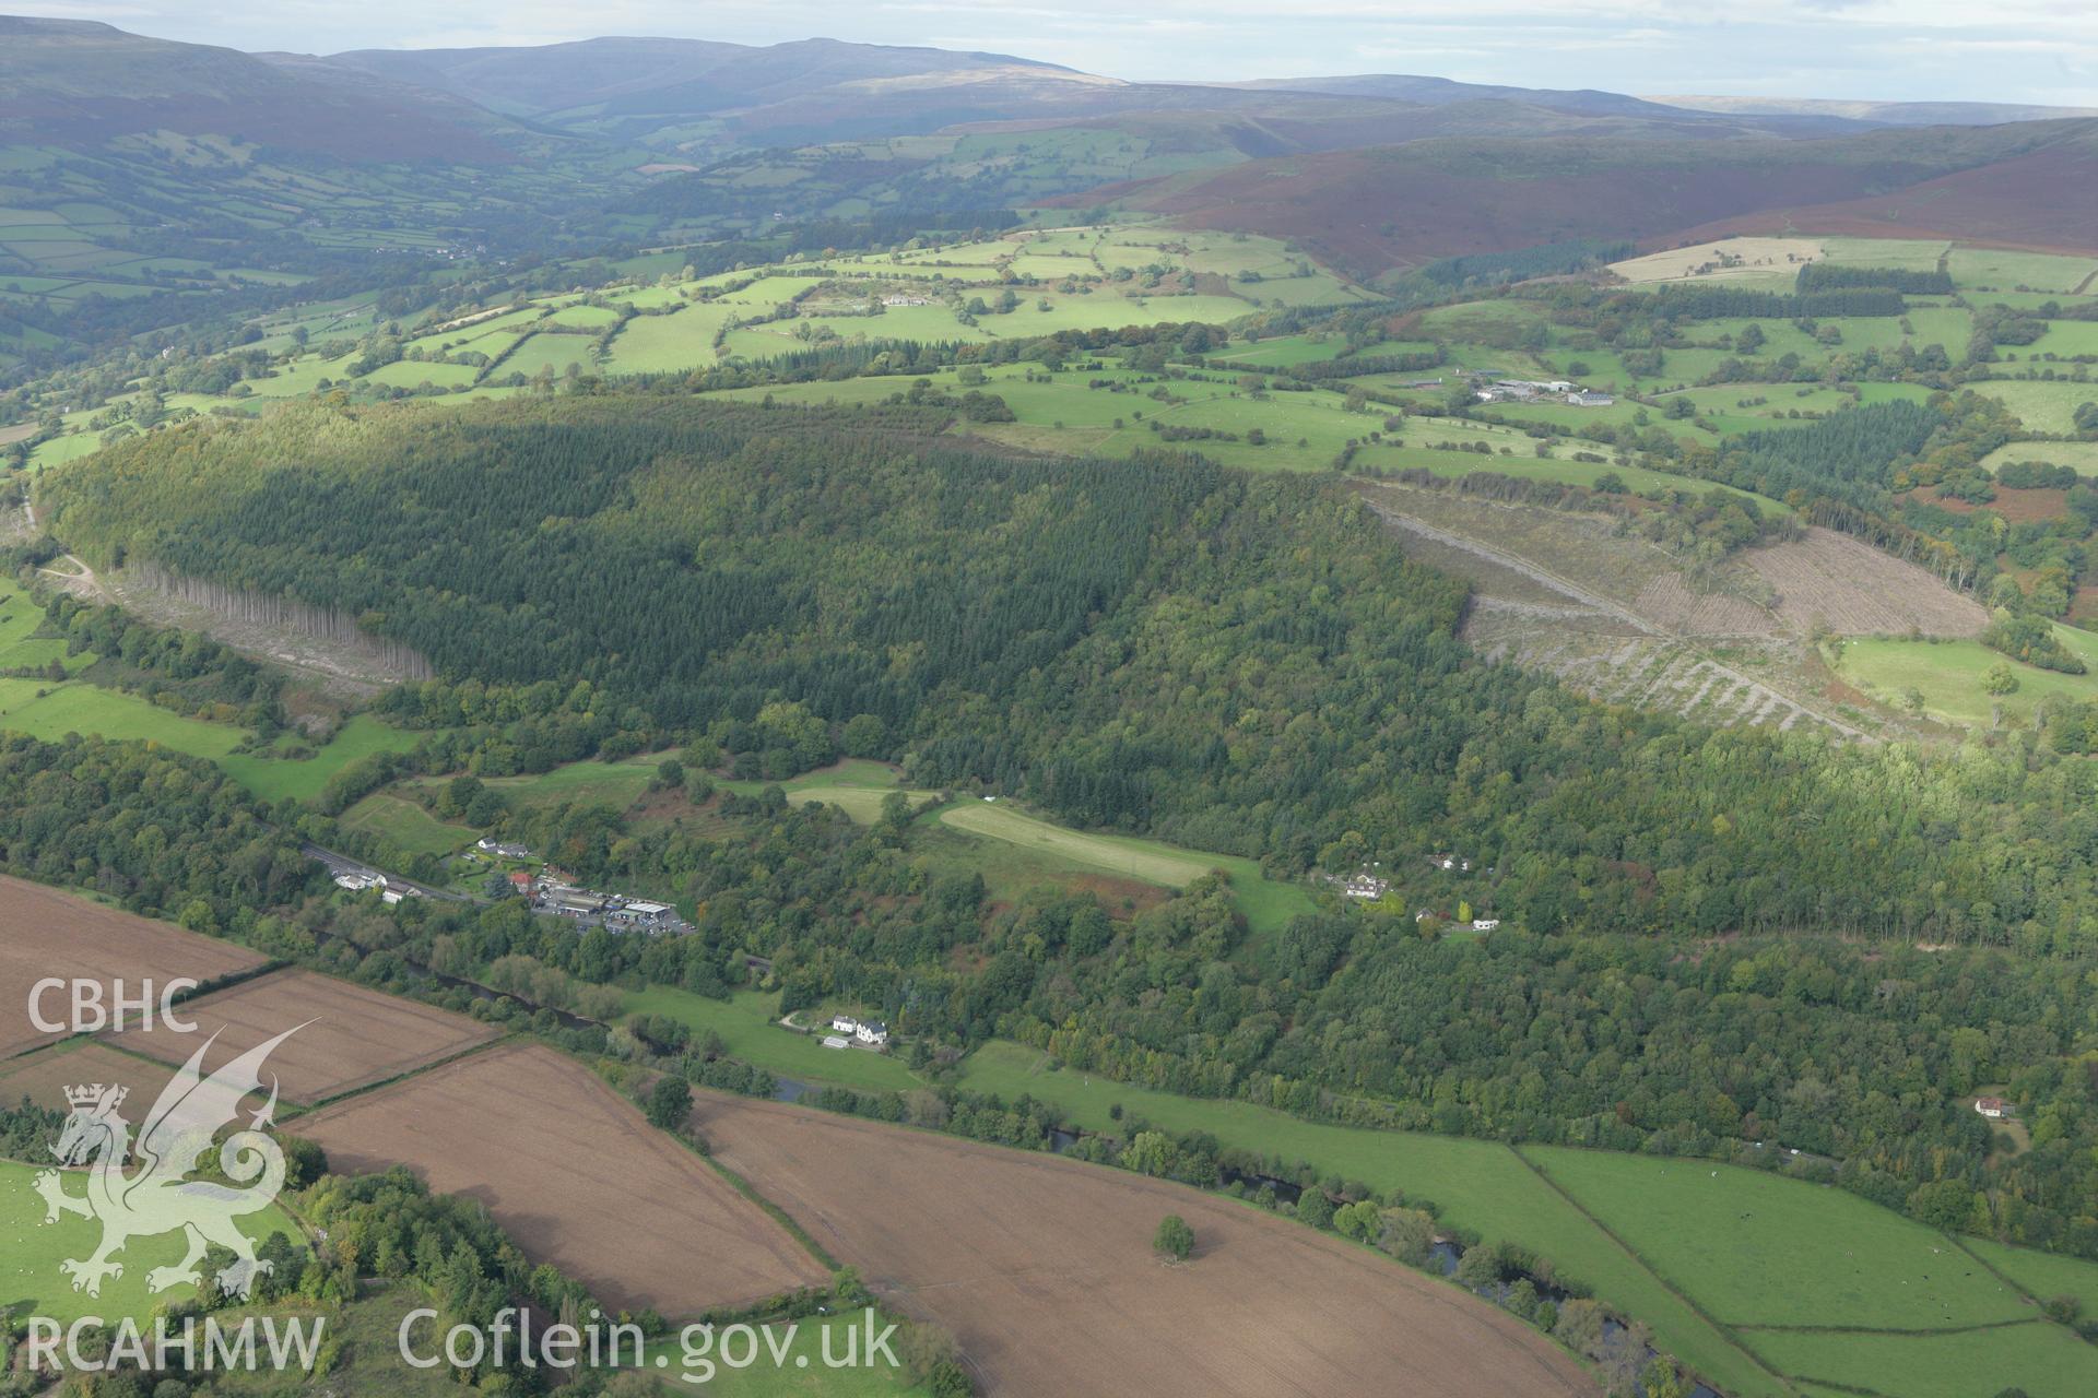
[[405,1163],[436,1193],[480,1199],[527,1258],[613,1310],[678,1318],[829,1281],[703,1159],[539,1044],[447,1063],[294,1130],[336,1172]]

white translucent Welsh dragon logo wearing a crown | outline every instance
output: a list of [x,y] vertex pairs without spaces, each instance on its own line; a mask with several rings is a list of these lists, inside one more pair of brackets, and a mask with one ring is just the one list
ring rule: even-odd
[[[262,1090],[262,1063],[298,1029],[304,1025],[285,1029],[206,1075],[204,1054],[218,1042],[214,1033],[162,1090],[136,1140],[130,1121],[117,1111],[128,1088],[90,1084],[65,1090],[73,1115],[67,1117],[52,1153],[61,1165],[92,1161],[88,1193],[67,1195],[65,1176],[57,1170],[36,1176],[36,1193],[44,1197],[46,1224],[59,1222],[61,1214],[103,1224],[103,1245],[92,1258],[59,1264],[73,1279],[73,1291],[101,1295],[105,1276],[124,1276],[124,1264],[111,1258],[124,1251],[130,1239],[180,1230],[189,1251],[180,1264],[147,1272],[147,1289],[197,1285],[201,1281],[197,1264],[216,1243],[235,1255],[233,1266],[218,1274],[218,1287],[227,1295],[248,1299],[256,1276],[266,1274],[271,1264],[256,1258],[254,1243],[233,1220],[266,1209],[283,1188],[283,1151],[262,1134],[277,1113],[275,1075],[269,1082],[269,1102],[218,1146],[218,1167],[233,1186],[185,1176],[199,1170],[220,1128],[241,1115],[241,1098]],[[138,1159],[138,1167],[126,1174],[124,1165],[132,1157]]]

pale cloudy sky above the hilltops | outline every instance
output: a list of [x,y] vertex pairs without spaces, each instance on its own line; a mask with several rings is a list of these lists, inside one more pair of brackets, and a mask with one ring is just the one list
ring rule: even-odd
[[1112,78],[1433,73],[1636,94],[2098,107],[2092,0],[48,0],[23,10],[248,50],[822,36],[1011,52]]

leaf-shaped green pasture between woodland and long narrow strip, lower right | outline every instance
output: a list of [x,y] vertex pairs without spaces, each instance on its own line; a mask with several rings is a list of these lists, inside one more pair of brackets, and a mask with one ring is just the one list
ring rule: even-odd
[[1521,1153],[1729,1327],[1922,1331],[2033,1316],[1945,1235],[1836,1186],[1697,1159]]

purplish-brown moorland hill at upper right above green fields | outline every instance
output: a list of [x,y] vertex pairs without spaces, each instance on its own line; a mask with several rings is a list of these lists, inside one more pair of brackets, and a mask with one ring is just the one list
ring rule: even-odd
[[1787,218],[1800,231],[1922,237],[1909,224],[1928,222],[1939,237],[2092,247],[2094,157],[2090,119],[1790,143],[1443,138],[1246,161],[1059,203],[1301,239],[1357,275],[1584,237],[1695,241]]

